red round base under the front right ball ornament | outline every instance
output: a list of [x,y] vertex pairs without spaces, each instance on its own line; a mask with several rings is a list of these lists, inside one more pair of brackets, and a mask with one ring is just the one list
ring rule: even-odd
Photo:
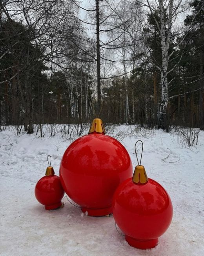
[[158,238],[150,239],[150,240],[137,240],[133,237],[126,235],[126,241],[129,245],[137,248],[137,249],[150,249],[154,248],[158,244]]

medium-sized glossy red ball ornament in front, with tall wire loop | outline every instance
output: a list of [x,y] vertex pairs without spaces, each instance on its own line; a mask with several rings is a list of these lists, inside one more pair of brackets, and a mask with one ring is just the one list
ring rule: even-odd
[[141,160],[133,177],[115,191],[113,217],[129,245],[150,249],[157,245],[158,237],[168,229],[173,206],[166,190],[155,180],[148,179],[144,166],[140,164]]

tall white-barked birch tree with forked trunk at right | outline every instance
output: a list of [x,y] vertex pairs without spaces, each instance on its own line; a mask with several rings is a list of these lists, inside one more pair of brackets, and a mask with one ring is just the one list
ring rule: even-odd
[[[175,58],[175,49],[169,51],[171,42],[173,42],[178,35],[183,31],[179,24],[182,24],[182,17],[179,16],[182,12],[188,9],[186,0],[155,0],[155,4],[150,0],[146,2],[138,1],[142,6],[148,8],[149,13],[152,15],[155,20],[159,35],[160,35],[160,45],[161,45],[161,56],[162,62],[159,65],[157,60],[153,57],[151,49],[148,48],[149,54],[152,57],[151,60],[153,65],[160,72],[160,83],[161,83],[161,103],[159,110],[159,124],[158,128],[166,129],[166,114],[167,114],[167,105],[169,99],[169,84],[172,81],[168,81],[168,74],[171,73],[175,67],[177,67],[180,59],[182,58],[182,53],[180,56],[176,56],[177,63],[169,69],[169,63]],[[156,14],[158,14],[158,19]],[[144,37],[146,41],[146,38]]]

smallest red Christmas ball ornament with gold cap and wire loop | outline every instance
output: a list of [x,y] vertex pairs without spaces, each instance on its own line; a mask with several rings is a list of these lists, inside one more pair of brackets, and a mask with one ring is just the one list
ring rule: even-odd
[[46,176],[42,177],[35,186],[35,197],[40,204],[45,206],[46,210],[53,210],[61,207],[61,200],[64,196],[64,189],[62,188],[60,178],[55,175],[54,169],[50,165],[51,160],[49,167],[46,169]]

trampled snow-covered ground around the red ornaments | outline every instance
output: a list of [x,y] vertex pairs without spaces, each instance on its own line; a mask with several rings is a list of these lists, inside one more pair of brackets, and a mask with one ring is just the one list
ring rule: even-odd
[[[143,130],[130,135],[130,126],[113,131],[127,148],[133,166],[134,145],[144,142],[142,164],[173,203],[173,220],[154,249],[138,250],[115,229],[113,217],[89,217],[64,198],[64,208],[46,211],[34,195],[45,174],[47,155],[59,174],[61,157],[69,146],[59,132],[15,135],[0,132],[0,255],[87,256],[201,256],[204,255],[204,132],[196,147],[181,144],[177,135]],[[45,130],[45,127],[44,127]],[[122,133],[120,133],[122,131]],[[129,135],[128,135],[129,134]]]

